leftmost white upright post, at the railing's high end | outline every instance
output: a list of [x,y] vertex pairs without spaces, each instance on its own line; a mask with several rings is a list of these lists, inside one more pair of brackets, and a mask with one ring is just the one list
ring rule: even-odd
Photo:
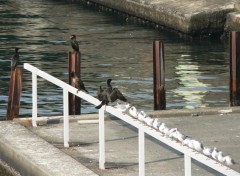
[[32,126],[37,127],[37,75],[32,73]]

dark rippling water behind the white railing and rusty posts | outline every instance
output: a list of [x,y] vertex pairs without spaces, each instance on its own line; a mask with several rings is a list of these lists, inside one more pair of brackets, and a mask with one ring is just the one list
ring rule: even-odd
[[[0,118],[6,116],[10,60],[67,81],[70,34],[82,53],[81,76],[90,94],[113,79],[138,109],[153,109],[152,40],[165,44],[167,108],[228,105],[225,41],[180,39],[176,34],[127,22],[113,13],[67,1],[0,0]],[[24,71],[20,115],[31,115],[31,74]],[[39,115],[62,114],[62,90],[38,79]],[[83,102],[83,113],[97,112]]]

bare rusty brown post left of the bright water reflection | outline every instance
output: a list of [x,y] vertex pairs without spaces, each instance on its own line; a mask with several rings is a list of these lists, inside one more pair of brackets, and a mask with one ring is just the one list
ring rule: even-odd
[[163,43],[153,41],[153,85],[154,85],[154,110],[166,109],[165,93],[165,65]]

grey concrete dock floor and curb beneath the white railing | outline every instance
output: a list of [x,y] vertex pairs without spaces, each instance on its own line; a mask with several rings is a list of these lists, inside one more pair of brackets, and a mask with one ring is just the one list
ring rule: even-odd
[[[149,112],[169,127],[217,147],[237,162],[240,172],[240,108],[207,108]],[[40,120],[41,119],[41,120]],[[0,122],[0,158],[22,175],[138,175],[138,133],[125,122],[108,116],[106,169],[98,168],[98,115],[70,118],[70,147],[63,146],[62,117],[39,118],[38,127],[29,119]],[[184,175],[183,155],[146,136],[146,175]],[[193,161],[192,175],[221,175]]]

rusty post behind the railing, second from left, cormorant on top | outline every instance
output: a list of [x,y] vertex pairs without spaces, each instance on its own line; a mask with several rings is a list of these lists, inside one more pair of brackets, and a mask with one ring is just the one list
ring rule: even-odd
[[[80,52],[68,52],[68,70],[69,70],[69,84],[74,86],[73,79],[71,78],[71,73],[75,72],[79,78],[80,77]],[[81,114],[81,99],[71,93],[68,96],[68,105],[69,105],[69,115],[79,115]]]

